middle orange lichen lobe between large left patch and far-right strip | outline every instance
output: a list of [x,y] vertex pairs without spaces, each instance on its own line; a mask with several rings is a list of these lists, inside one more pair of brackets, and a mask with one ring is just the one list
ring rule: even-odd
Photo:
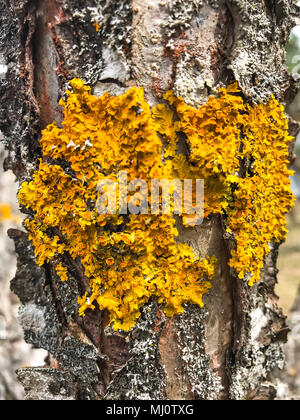
[[[164,134],[169,143],[167,156],[173,156],[173,170],[185,179],[205,180],[205,216],[222,213],[227,207],[231,182],[227,177],[239,171],[241,126],[245,105],[237,85],[220,90],[220,97],[209,98],[200,109],[187,106],[182,98],[167,92],[165,99],[174,106],[179,121],[172,122]],[[165,107],[169,122],[169,109]],[[162,114],[162,112],[161,112]],[[176,133],[185,134],[188,158],[176,154]]]

